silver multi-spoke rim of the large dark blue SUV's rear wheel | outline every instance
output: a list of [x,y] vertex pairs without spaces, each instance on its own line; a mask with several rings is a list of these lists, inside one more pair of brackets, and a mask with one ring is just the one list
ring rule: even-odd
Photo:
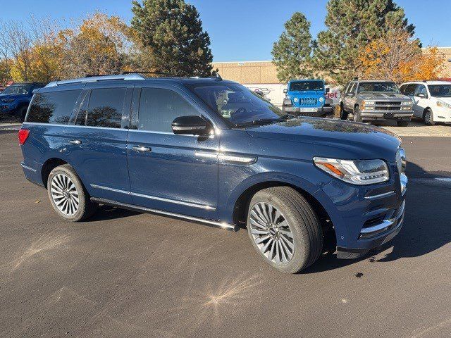
[[56,208],[64,215],[71,216],[78,211],[78,191],[67,175],[57,174],[51,179],[50,193]]

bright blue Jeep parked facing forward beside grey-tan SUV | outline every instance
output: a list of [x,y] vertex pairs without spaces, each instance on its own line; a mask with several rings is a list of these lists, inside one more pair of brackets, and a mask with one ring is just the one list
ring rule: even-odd
[[328,88],[323,80],[291,80],[283,92],[285,113],[319,118],[333,114],[332,99],[326,98]]

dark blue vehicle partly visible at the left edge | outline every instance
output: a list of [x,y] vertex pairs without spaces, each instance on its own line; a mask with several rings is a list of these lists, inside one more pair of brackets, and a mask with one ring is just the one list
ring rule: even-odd
[[20,122],[25,120],[28,105],[33,96],[33,90],[42,88],[45,83],[15,83],[0,93],[0,119],[15,116]]

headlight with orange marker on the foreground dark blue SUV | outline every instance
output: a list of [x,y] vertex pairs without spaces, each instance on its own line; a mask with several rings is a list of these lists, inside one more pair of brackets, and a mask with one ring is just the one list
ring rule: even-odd
[[388,166],[382,160],[351,161],[314,157],[315,165],[326,173],[352,184],[375,184],[388,181]]

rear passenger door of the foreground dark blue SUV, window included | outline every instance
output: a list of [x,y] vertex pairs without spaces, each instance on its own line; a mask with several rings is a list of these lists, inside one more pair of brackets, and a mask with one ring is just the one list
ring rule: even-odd
[[71,116],[64,159],[91,196],[131,203],[126,142],[132,87],[89,84]]

